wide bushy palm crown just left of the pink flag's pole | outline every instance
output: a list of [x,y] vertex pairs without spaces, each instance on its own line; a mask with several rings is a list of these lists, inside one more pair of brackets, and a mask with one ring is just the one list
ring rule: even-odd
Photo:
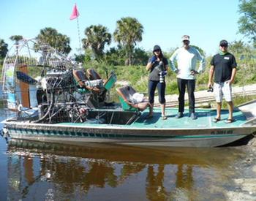
[[39,43],[46,43],[52,48],[56,48],[56,50],[65,55],[71,51],[69,37],[58,33],[56,29],[50,27],[41,29],[37,35],[37,40]]

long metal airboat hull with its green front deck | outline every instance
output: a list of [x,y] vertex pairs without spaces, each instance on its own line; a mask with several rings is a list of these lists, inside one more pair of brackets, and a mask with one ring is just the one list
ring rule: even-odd
[[6,121],[13,139],[35,140],[49,143],[86,145],[86,143],[112,143],[140,146],[217,147],[229,145],[252,136],[256,126],[247,124],[246,116],[234,111],[235,122],[225,124],[227,111],[222,111],[223,121],[212,122],[215,110],[197,110],[197,120],[176,119],[176,109],[167,109],[167,120],[162,120],[160,110],[147,120],[146,113],[129,125],[99,124],[99,122],[32,124]]

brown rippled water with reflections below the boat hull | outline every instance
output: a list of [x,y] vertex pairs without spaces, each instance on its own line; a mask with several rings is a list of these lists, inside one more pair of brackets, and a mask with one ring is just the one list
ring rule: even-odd
[[[86,147],[12,140],[10,200],[225,198],[236,148]],[[213,189],[212,185],[220,186]]]

